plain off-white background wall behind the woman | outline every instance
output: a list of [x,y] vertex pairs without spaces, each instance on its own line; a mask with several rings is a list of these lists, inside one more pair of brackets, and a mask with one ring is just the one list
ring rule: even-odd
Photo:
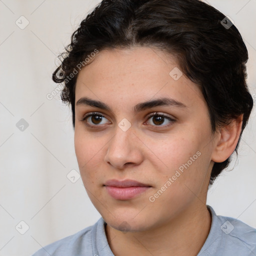
[[[46,98],[57,54],[99,0],[0,0],[0,256],[30,255],[50,242],[94,224],[100,214],[81,179],[67,173],[78,165],[71,111]],[[256,98],[256,0],[208,0],[229,16],[249,52],[248,84]],[[23,15],[29,24],[20,29]],[[24,25],[24,19],[22,21]],[[22,25],[20,24],[20,25]],[[23,131],[16,123],[24,118]],[[208,192],[217,214],[256,227],[255,108],[244,130],[232,171]],[[229,168],[229,169],[230,169]],[[25,224],[29,229],[22,235]]]

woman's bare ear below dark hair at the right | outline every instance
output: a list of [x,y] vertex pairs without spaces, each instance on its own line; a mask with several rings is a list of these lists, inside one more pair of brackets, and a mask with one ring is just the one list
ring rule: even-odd
[[219,129],[215,148],[213,148],[211,155],[212,161],[223,162],[232,154],[241,133],[242,118],[243,114],[236,119],[232,119],[230,123]]

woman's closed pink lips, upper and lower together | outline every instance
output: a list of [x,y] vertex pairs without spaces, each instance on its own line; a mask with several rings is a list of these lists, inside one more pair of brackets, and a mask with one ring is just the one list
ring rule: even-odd
[[152,187],[148,184],[131,179],[110,179],[105,182],[104,186],[108,194],[117,200],[128,200],[134,198]]

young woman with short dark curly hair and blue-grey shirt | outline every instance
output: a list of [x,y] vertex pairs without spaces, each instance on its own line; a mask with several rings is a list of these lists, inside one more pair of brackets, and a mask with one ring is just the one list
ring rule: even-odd
[[53,80],[102,217],[34,256],[256,254],[256,229],[206,205],[252,109],[247,59],[232,21],[199,0],[97,5]]

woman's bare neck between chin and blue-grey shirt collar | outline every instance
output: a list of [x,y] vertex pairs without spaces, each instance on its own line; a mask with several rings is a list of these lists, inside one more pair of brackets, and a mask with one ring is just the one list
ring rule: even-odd
[[210,224],[210,212],[198,200],[162,226],[142,232],[122,232],[106,224],[105,233],[115,256],[196,256],[208,236]]

